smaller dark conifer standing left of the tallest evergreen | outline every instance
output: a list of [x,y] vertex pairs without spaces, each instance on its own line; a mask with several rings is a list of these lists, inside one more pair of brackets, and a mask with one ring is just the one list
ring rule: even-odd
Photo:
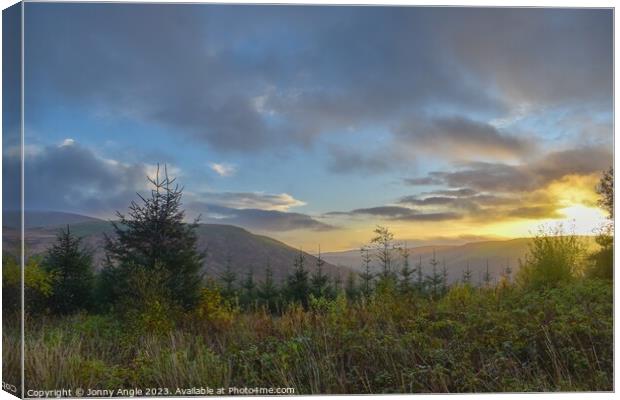
[[51,312],[69,314],[92,305],[92,255],[81,247],[81,239],[71,233],[68,225],[47,250],[43,268],[52,276],[48,298]]

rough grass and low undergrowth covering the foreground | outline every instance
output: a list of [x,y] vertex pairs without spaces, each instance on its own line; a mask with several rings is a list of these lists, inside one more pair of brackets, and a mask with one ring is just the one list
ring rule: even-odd
[[[388,290],[368,301],[291,306],[280,316],[219,304],[146,333],[111,316],[27,318],[26,389],[610,391],[612,292],[598,280],[536,291],[455,286],[436,300]],[[19,333],[7,328],[5,349]],[[18,371],[17,357],[3,361]]]

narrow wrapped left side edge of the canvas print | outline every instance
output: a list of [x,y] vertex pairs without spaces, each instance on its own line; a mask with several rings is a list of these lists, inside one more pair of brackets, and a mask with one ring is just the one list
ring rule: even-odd
[[22,3],[2,12],[2,389],[23,397]]

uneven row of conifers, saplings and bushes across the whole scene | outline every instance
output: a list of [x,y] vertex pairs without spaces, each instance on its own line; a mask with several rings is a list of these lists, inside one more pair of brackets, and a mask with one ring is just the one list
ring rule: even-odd
[[[255,277],[253,269],[238,276],[233,272],[231,256],[223,271],[206,277],[201,271],[205,253],[197,248],[198,220],[185,222],[183,189],[169,178],[165,168],[163,173],[158,168],[156,176],[148,180],[153,187],[150,195],[138,194],[128,213],[117,212],[118,221],[111,222],[114,232],[105,236],[105,261],[99,273],[94,271],[92,252],[69,226],[59,233],[40,262],[29,260],[25,269],[29,312],[63,315],[87,310],[135,315],[155,304],[162,315],[175,315],[194,310],[205,288],[217,290],[232,306],[264,308],[272,313],[281,313],[291,304],[307,308],[311,302],[341,295],[349,301],[367,301],[377,292],[391,291],[435,299],[449,290],[446,263],[439,261],[434,251],[427,266],[421,257],[412,263],[406,245],[396,243],[393,233],[383,226],[377,226],[374,237],[360,249],[361,272],[348,273],[344,282],[339,275],[325,272],[320,251],[314,265],[309,265],[301,250],[282,282],[274,280],[269,263],[261,279]],[[597,190],[610,222],[601,228],[596,238],[600,250],[588,256],[586,268],[578,238],[556,229],[541,231],[533,239],[514,278],[507,264],[495,282],[487,261],[477,285],[469,264],[453,284],[489,288],[514,281],[545,287],[579,274],[612,279],[613,170],[604,173]],[[16,260],[5,255],[3,303],[9,310],[19,307],[16,266]]]

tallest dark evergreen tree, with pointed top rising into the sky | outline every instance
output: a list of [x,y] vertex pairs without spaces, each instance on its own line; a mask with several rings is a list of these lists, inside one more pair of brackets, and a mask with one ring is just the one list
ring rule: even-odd
[[130,275],[146,269],[162,277],[162,292],[169,293],[171,303],[190,309],[200,296],[204,259],[197,250],[197,221],[184,222],[183,190],[168,177],[165,167],[163,177],[158,166],[155,178],[148,181],[153,186],[150,196],[138,194],[140,200],[131,202],[128,215],[117,212],[114,235],[105,236],[105,287],[114,302],[131,300]]

